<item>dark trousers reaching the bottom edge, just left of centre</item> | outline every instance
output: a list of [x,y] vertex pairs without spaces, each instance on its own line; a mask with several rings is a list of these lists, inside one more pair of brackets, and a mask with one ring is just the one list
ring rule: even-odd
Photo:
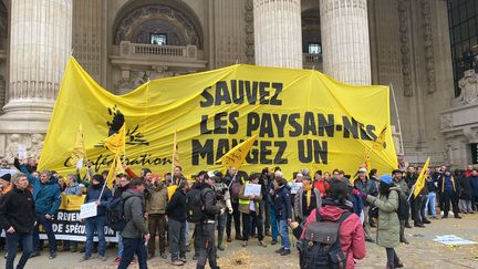
[[216,261],[216,244],[215,244],[215,224],[198,225],[197,237],[199,238],[199,257],[197,269],[204,269],[206,261],[209,260],[211,269],[217,268]]

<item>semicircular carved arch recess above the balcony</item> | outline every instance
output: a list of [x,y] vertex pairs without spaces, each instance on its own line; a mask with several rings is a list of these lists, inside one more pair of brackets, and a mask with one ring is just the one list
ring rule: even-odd
[[131,11],[122,19],[115,33],[115,44],[121,41],[147,43],[149,33],[168,34],[168,44],[193,44],[202,48],[202,37],[191,19],[168,6],[145,6]]

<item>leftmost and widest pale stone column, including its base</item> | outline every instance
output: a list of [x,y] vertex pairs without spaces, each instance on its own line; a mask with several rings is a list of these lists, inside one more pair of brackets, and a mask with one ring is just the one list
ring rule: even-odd
[[11,1],[10,25],[0,133],[44,133],[72,51],[72,0]]

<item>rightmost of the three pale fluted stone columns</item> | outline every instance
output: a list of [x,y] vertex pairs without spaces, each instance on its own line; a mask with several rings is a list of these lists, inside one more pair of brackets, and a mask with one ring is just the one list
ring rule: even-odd
[[324,73],[371,84],[367,0],[320,0],[320,20]]

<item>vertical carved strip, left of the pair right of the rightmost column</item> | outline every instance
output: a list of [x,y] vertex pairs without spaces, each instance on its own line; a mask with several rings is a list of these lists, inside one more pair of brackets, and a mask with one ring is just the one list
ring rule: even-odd
[[398,23],[399,23],[399,40],[402,52],[402,82],[403,91],[406,97],[413,96],[412,90],[412,68],[409,54],[408,39],[408,1],[398,0]]

